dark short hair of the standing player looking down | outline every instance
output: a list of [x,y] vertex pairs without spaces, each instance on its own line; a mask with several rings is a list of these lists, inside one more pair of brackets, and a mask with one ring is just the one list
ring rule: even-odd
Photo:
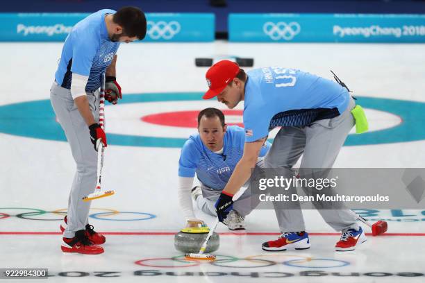
[[122,27],[122,35],[138,37],[139,40],[146,36],[147,23],[144,12],[137,7],[124,7],[113,16],[113,21]]

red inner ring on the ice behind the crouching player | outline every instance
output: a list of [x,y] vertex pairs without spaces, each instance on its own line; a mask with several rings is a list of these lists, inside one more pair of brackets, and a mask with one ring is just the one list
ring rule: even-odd
[[[242,110],[222,110],[226,115],[226,120],[231,116],[242,117]],[[158,114],[150,114],[141,118],[142,121],[153,123],[160,126],[172,126],[181,128],[197,128],[199,110],[186,110],[175,112],[164,112]],[[243,123],[227,123],[227,125],[238,125],[243,127]]]

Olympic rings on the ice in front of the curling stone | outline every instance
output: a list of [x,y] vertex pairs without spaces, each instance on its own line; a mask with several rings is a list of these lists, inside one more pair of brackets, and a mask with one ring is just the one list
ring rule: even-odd
[[[278,257],[278,259],[270,259],[270,257]],[[267,258],[267,259],[265,259]],[[279,260],[283,258],[283,260]],[[285,259],[288,258],[288,259]],[[167,264],[159,262],[169,261]],[[184,255],[176,257],[153,257],[140,259],[135,261],[135,264],[140,266],[148,266],[155,268],[185,268],[199,266],[201,264],[210,264],[225,268],[263,268],[283,264],[285,266],[297,268],[337,268],[348,266],[349,261],[340,259],[322,259],[315,257],[307,257],[303,255],[288,255],[288,254],[269,254],[269,255],[251,255],[249,257],[239,258],[231,255],[217,255],[215,261],[199,261],[195,259],[185,259]]]

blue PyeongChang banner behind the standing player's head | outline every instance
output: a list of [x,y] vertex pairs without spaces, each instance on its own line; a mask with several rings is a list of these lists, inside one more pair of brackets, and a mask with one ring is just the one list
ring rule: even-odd
[[[62,42],[88,13],[0,13],[0,42]],[[210,42],[215,15],[147,13],[143,42]]]

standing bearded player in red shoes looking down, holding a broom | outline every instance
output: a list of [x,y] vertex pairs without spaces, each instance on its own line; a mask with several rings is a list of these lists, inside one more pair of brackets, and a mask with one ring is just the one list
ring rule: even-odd
[[63,252],[103,252],[99,245],[106,238],[88,223],[91,202],[82,201],[96,186],[96,142],[101,139],[104,146],[108,144],[99,125],[99,87],[105,74],[105,99],[116,104],[122,98],[115,72],[119,44],[142,40],[146,28],[146,18],[139,8],[99,10],[78,22],[63,45],[50,89],[51,105],[76,163],[67,216],[60,225]]

